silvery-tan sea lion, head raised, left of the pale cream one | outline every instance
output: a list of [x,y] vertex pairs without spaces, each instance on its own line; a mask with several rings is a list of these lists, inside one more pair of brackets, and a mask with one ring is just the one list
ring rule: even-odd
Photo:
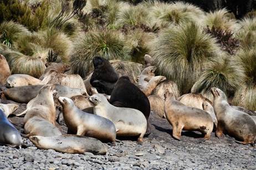
[[63,116],[69,132],[101,141],[115,141],[116,128],[109,119],[81,111],[69,98],[59,97],[59,102],[62,103]]

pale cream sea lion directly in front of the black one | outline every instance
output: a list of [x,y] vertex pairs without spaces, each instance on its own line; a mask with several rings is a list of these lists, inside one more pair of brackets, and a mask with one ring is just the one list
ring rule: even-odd
[[142,142],[147,130],[147,120],[140,110],[115,107],[103,94],[94,94],[89,100],[95,105],[94,114],[115,124],[117,136],[139,136],[138,142]]

